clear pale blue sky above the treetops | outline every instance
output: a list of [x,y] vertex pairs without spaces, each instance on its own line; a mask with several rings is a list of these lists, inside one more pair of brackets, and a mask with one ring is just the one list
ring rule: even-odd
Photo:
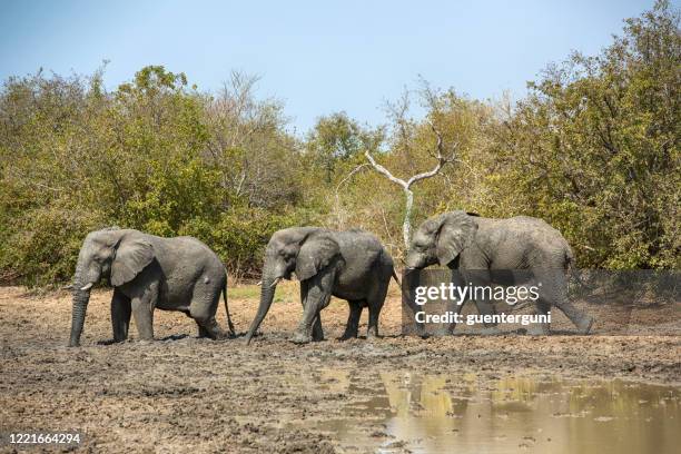
[[[675,2],[674,2],[675,3]],[[146,65],[216,90],[231,70],[261,77],[298,134],[345,110],[382,106],[422,75],[475,98],[517,98],[550,62],[596,53],[653,0],[9,1],[0,0],[0,78],[40,67],[115,88]]]

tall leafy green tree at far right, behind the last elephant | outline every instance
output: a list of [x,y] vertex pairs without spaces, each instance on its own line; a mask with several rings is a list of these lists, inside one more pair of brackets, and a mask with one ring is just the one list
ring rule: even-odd
[[504,191],[547,218],[581,266],[679,266],[679,12],[659,1],[601,55],[530,85],[499,135]]

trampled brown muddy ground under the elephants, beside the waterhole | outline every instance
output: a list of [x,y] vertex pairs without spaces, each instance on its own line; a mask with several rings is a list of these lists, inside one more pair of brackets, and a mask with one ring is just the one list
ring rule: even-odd
[[[136,342],[131,326],[129,342],[97,345],[110,338],[111,328],[110,292],[96,290],[82,347],[67,348],[68,293],[1,288],[0,432],[77,430],[86,434],[80,447],[91,452],[330,453],[377,446],[408,452],[408,444],[384,432],[379,418],[363,415],[357,405],[366,397],[363,383],[368,389],[382,374],[405,372],[465,374],[480,387],[517,375],[672,386],[681,379],[678,336],[402,337],[394,285],[381,316],[382,338],[336,340],[347,305],[334,300],[323,313],[327,340],[294,345],[287,339],[302,313],[297,292],[296,283],[279,286],[263,335],[246,347],[240,338],[199,339],[191,319],[159,310],[159,340]],[[233,318],[244,333],[256,312],[258,288],[238,286],[229,295]],[[678,310],[665,310],[665,320],[678,319]],[[218,314],[225,326],[224,309]],[[659,317],[660,310],[650,314]],[[366,313],[362,320],[364,333]],[[352,386],[344,385],[348,381]],[[325,427],[348,413],[375,446],[343,441],[330,424]],[[0,445],[2,452],[12,450]]]

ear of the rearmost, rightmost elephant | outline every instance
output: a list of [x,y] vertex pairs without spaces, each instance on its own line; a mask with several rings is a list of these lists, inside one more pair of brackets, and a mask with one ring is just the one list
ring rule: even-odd
[[473,241],[477,224],[464,211],[446,213],[441,221],[435,254],[440,265],[446,266]]

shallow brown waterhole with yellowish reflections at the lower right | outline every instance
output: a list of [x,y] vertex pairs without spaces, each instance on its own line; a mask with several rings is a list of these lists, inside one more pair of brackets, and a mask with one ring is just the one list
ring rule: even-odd
[[[325,391],[351,397],[319,422],[342,446],[391,453],[678,453],[678,387],[622,381],[382,373],[367,384],[322,371]],[[369,422],[383,427],[367,434]]]

